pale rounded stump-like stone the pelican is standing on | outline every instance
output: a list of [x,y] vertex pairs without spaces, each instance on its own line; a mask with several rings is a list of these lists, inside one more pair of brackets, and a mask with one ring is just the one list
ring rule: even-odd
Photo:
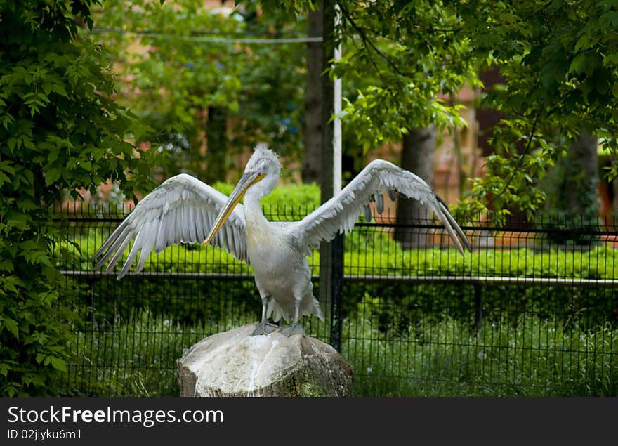
[[353,369],[327,343],[254,324],[209,336],[178,360],[180,396],[351,396]]

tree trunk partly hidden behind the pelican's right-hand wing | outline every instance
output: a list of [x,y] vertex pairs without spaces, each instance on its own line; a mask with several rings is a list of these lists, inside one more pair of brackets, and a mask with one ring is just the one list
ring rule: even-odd
[[[433,188],[433,152],[435,150],[435,129],[410,129],[402,141],[401,166],[423,178]],[[414,199],[400,197],[397,202],[397,226],[395,240],[403,249],[426,247],[428,230],[406,228],[401,225],[429,223],[430,210]]]

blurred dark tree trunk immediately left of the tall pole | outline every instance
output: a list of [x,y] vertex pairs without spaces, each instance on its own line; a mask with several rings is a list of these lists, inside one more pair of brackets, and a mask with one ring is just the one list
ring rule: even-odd
[[[308,16],[309,37],[322,37],[322,2]],[[305,88],[305,156],[303,157],[303,182],[320,184],[322,178],[322,43],[307,44],[307,85]]]

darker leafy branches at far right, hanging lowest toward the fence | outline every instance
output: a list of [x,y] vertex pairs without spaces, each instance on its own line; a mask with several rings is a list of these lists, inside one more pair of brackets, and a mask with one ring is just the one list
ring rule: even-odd
[[[546,169],[585,130],[617,153],[618,4],[615,1],[453,1],[461,31],[489,56],[504,83],[484,105],[504,116],[496,154],[472,197],[501,220],[508,206],[529,218],[544,201]],[[616,175],[616,164],[607,178]]]

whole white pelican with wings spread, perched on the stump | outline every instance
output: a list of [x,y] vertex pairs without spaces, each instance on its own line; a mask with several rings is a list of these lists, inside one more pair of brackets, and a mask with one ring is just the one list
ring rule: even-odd
[[[109,260],[112,270],[129,246],[118,279],[128,273],[140,254],[136,272],[147,257],[178,243],[202,242],[204,246],[226,249],[235,258],[251,265],[262,302],[262,317],[254,335],[269,334],[281,317],[293,322],[282,327],[287,336],[303,334],[298,317],[315,315],[324,320],[320,303],[313,296],[311,270],[307,257],[322,241],[332,240],[337,232],[349,232],[369,202],[383,212],[383,191],[391,199],[396,193],[429,206],[446,230],[456,249],[471,250],[466,235],[449,213],[445,202],[419,176],[395,164],[376,159],[370,162],[341,192],[300,221],[268,221],[261,199],[275,188],[281,164],[275,152],[256,147],[230,197],[185,173],[173,176],[146,195],[131,214],[96,251],[94,268]],[[244,204],[239,204],[244,197]]]

